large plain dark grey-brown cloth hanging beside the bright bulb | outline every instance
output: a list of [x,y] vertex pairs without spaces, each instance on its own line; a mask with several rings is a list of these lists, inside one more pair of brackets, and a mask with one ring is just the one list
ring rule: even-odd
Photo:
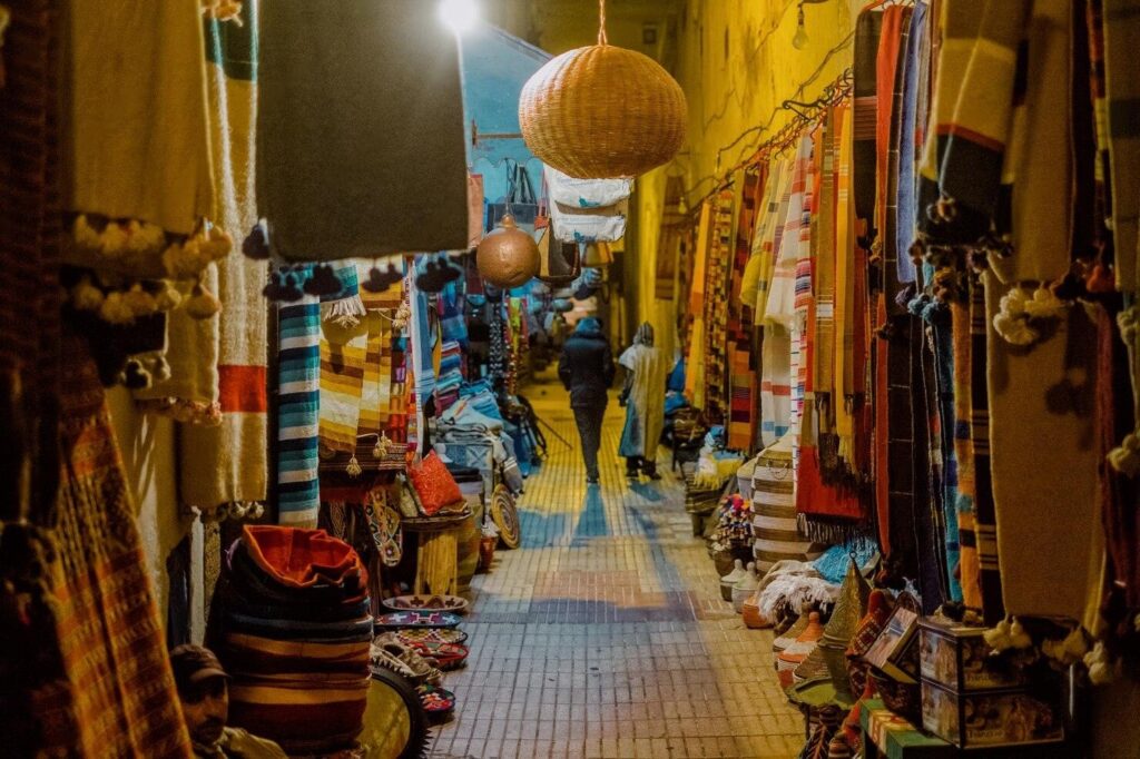
[[258,205],[287,261],[467,247],[456,39],[430,2],[260,5]]

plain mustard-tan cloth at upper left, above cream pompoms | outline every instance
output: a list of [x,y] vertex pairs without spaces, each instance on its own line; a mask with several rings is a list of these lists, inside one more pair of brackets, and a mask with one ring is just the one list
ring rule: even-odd
[[64,207],[188,235],[214,188],[198,0],[74,0],[64,16]]

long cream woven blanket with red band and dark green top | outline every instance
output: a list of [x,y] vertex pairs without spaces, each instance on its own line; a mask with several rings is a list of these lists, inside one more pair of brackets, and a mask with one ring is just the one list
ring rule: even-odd
[[[214,150],[214,219],[235,236],[256,222],[253,191],[256,117],[256,17],[242,25],[206,22],[206,81]],[[264,500],[267,491],[268,332],[261,295],[267,264],[234,252],[218,263],[218,407],[215,426],[179,429],[184,503],[203,508]],[[171,315],[173,318],[173,315]],[[201,360],[201,359],[199,359]],[[173,367],[172,367],[173,368]]]

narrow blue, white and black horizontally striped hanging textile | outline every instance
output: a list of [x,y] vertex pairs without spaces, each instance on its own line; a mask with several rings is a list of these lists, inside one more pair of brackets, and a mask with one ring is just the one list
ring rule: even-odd
[[320,511],[317,448],[320,414],[320,302],[277,305],[278,522],[315,528]]

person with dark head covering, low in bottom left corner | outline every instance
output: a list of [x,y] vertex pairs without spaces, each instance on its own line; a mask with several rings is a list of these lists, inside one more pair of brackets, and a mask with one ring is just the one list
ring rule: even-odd
[[229,675],[212,651],[203,646],[181,645],[170,652],[170,663],[195,757],[287,759],[272,741],[226,726],[229,718]]

